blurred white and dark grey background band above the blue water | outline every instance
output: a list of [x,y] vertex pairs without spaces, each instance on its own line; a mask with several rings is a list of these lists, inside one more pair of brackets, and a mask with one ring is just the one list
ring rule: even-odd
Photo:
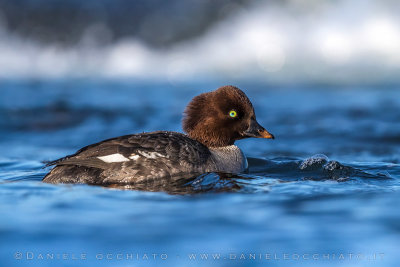
[[392,84],[396,0],[0,0],[0,78]]

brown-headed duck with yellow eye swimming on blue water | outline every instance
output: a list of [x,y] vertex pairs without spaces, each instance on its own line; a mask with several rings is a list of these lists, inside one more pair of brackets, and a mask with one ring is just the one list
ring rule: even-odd
[[245,138],[274,139],[256,120],[239,88],[226,85],[195,96],[183,113],[182,129],[107,139],[48,162],[45,183],[135,184],[174,176],[242,173],[247,158],[235,145]]

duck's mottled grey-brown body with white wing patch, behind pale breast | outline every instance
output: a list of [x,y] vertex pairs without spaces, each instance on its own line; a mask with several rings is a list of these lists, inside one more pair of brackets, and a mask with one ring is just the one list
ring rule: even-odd
[[210,150],[176,132],[108,139],[50,162],[47,183],[129,184],[207,170]]

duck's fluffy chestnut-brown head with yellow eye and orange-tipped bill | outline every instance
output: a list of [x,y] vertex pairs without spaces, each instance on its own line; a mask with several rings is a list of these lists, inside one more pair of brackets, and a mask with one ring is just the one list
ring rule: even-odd
[[246,94],[230,85],[194,97],[185,109],[182,123],[189,137],[209,147],[233,145],[248,137],[274,139],[256,121]]

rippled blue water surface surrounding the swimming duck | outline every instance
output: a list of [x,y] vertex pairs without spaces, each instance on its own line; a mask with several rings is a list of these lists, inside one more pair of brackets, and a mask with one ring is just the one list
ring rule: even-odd
[[188,101],[219,85],[2,82],[1,266],[398,266],[396,86],[236,84],[277,137],[237,142],[248,174],[155,192],[41,183],[42,161],[84,145],[181,131]]

